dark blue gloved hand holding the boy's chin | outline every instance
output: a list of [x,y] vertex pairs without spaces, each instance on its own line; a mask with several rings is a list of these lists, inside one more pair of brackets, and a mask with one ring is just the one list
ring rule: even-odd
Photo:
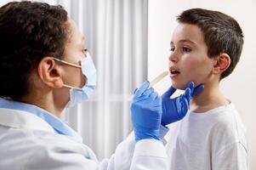
[[194,88],[194,82],[189,82],[185,88],[185,93],[174,99],[170,99],[176,91],[173,87],[162,94],[162,126],[181,120],[189,110],[191,97],[198,94],[203,88],[203,85]]

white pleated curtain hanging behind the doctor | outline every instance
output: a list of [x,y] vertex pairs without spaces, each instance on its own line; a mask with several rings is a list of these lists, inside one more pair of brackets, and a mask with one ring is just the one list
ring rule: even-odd
[[109,157],[132,130],[129,99],[147,77],[148,0],[38,1],[62,5],[86,38],[98,71],[97,89],[63,118],[99,159]]

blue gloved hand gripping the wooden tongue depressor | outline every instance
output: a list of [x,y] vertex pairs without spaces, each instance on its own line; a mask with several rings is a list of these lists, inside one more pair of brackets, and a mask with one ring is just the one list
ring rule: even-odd
[[160,139],[162,98],[149,86],[150,82],[144,82],[135,90],[130,106],[136,142],[140,139]]

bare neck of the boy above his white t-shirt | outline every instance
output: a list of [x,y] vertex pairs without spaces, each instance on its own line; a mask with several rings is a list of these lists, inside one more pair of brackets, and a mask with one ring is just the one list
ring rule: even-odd
[[190,111],[204,113],[221,105],[228,105],[230,102],[219,90],[219,82],[206,83],[202,92],[191,99]]

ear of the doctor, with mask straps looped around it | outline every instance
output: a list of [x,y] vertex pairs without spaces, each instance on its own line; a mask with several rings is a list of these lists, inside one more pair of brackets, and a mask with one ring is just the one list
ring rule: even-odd
[[44,57],[37,66],[37,73],[41,80],[51,88],[63,87],[60,66],[52,57]]

